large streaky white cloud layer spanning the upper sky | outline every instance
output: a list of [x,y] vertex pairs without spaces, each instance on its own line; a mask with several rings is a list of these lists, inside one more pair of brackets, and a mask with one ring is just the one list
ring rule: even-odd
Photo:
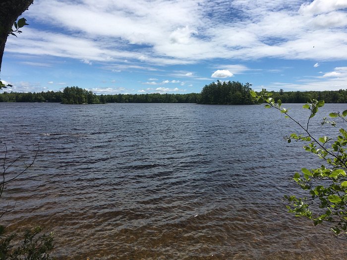
[[[35,0],[26,17],[59,33],[28,27],[6,52],[107,63],[115,72],[214,58],[342,60],[344,8],[346,0]],[[225,19],[228,9],[243,15]],[[245,71],[237,66],[224,68]]]

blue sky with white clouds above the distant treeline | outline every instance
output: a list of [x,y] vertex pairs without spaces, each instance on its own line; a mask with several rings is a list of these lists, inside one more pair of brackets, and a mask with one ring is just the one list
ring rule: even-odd
[[347,89],[347,0],[34,0],[21,17],[0,75],[12,91]]

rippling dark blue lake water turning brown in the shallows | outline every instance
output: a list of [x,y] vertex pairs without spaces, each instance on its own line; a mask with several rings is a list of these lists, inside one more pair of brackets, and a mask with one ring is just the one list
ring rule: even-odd
[[[301,122],[300,104],[289,104]],[[14,172],[11,230],[55,233],[60,259],[347,259],[346,239],[287,213],[290,181],[317,159],[261,105],[0,103]],[[346,104],[326,104],[313,119]],[[302,110],[302,112],[301,112]],[[327,132],[327,133],[326,133]],[[4,147],[2,146],[2,154]]]

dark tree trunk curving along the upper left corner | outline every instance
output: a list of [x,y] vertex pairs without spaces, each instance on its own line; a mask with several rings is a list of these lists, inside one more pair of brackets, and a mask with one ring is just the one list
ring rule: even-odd
[[12,28],[13,23],[17,20],[34,0],[0,0],[0,72],[2,55],[8,32]]

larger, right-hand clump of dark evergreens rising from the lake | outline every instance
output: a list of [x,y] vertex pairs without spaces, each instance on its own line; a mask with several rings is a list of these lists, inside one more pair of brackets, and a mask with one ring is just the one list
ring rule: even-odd
[[201,91],[201,104],[254,104],[249,83],[212,82]]

